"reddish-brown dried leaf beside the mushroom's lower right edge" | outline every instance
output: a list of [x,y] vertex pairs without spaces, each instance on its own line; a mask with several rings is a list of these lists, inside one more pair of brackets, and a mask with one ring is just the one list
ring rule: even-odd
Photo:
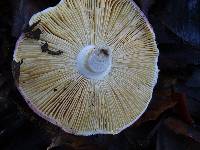
[[188,124],[192,124],[193,120],[187,108],[185,94],[177,92],[172,92],[170,95],[168,94],[168,92],[158,92],[157,96],[160,99],[156,100],[153,105],[150,105],[147,111],[135,123],[135,126],[139,126],[142,123],[158,119],[162,113],[170,108],[174,108],[176,113],[183,121]]

